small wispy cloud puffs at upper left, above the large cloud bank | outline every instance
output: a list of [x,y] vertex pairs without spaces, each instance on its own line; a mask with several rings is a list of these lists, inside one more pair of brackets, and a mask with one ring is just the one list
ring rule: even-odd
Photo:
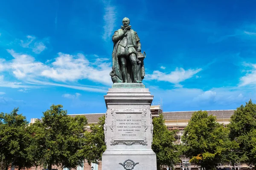
[[[44,51],[47,47],[42,41],[36,41],[34,40],[36,37],[28,35],[27,40],[20,40],[21,46],[23,48],[30,48],[35,54],[40,54],[42,51]],[[33,43],[32,43],[33,42]],[[32,45],[33,44],[33,45]]]

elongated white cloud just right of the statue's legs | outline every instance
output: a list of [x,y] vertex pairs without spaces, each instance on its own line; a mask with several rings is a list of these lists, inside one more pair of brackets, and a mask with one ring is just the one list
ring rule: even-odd
[[178,84],[179,82],[183,82],[186,79],[193,77],[199,71],[202,71],[202,68],[199,69],[188,69],[184,70],[183,68],[176,68],[175,71],[171,73],[163,73],[161,71],[153,71],[153,74],[148,74],[146,76],[147,80],[158,80],[171,82],[173,84]]

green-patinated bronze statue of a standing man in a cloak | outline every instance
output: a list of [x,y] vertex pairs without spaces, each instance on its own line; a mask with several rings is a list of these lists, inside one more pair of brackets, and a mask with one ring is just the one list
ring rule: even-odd
[[138,59],[138,54],[141,54],[140,38],[129,26],[130,20],[127,17],[122,20],[122,23],[121,29],[115,31],[112,37],[114,48],[111,79],[113,83],[142,82],[145,69],[143,59]]

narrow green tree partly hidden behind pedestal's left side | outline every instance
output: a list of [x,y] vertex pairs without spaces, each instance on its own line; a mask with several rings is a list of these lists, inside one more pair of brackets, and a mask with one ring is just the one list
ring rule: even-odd
[[104,134],[105,116],[99,118],[97,124],[90,125],[90,133],[87,133],[85,145],[83,147],[84,157],[88,161],[99,164],[102,160],[102,153],[106,150]]

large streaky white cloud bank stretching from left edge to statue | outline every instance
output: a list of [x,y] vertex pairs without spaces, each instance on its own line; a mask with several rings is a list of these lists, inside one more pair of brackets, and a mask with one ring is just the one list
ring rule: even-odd
[[16,53],[12,49],[7,51],[13,59],[0,60],[0,70],[9,71],[19,82],[5,81],[2,75],[0,87],[38,88],[42,85],[54,85],[84,91],[106,92],[103,87],[80,85],[77,81],[88,79],[103,85],[112,85],[109,76],[111,63],[106,58],[97,57],[89,61],[83,54],[58,53],[58,57],[43,63],[28,54]]

